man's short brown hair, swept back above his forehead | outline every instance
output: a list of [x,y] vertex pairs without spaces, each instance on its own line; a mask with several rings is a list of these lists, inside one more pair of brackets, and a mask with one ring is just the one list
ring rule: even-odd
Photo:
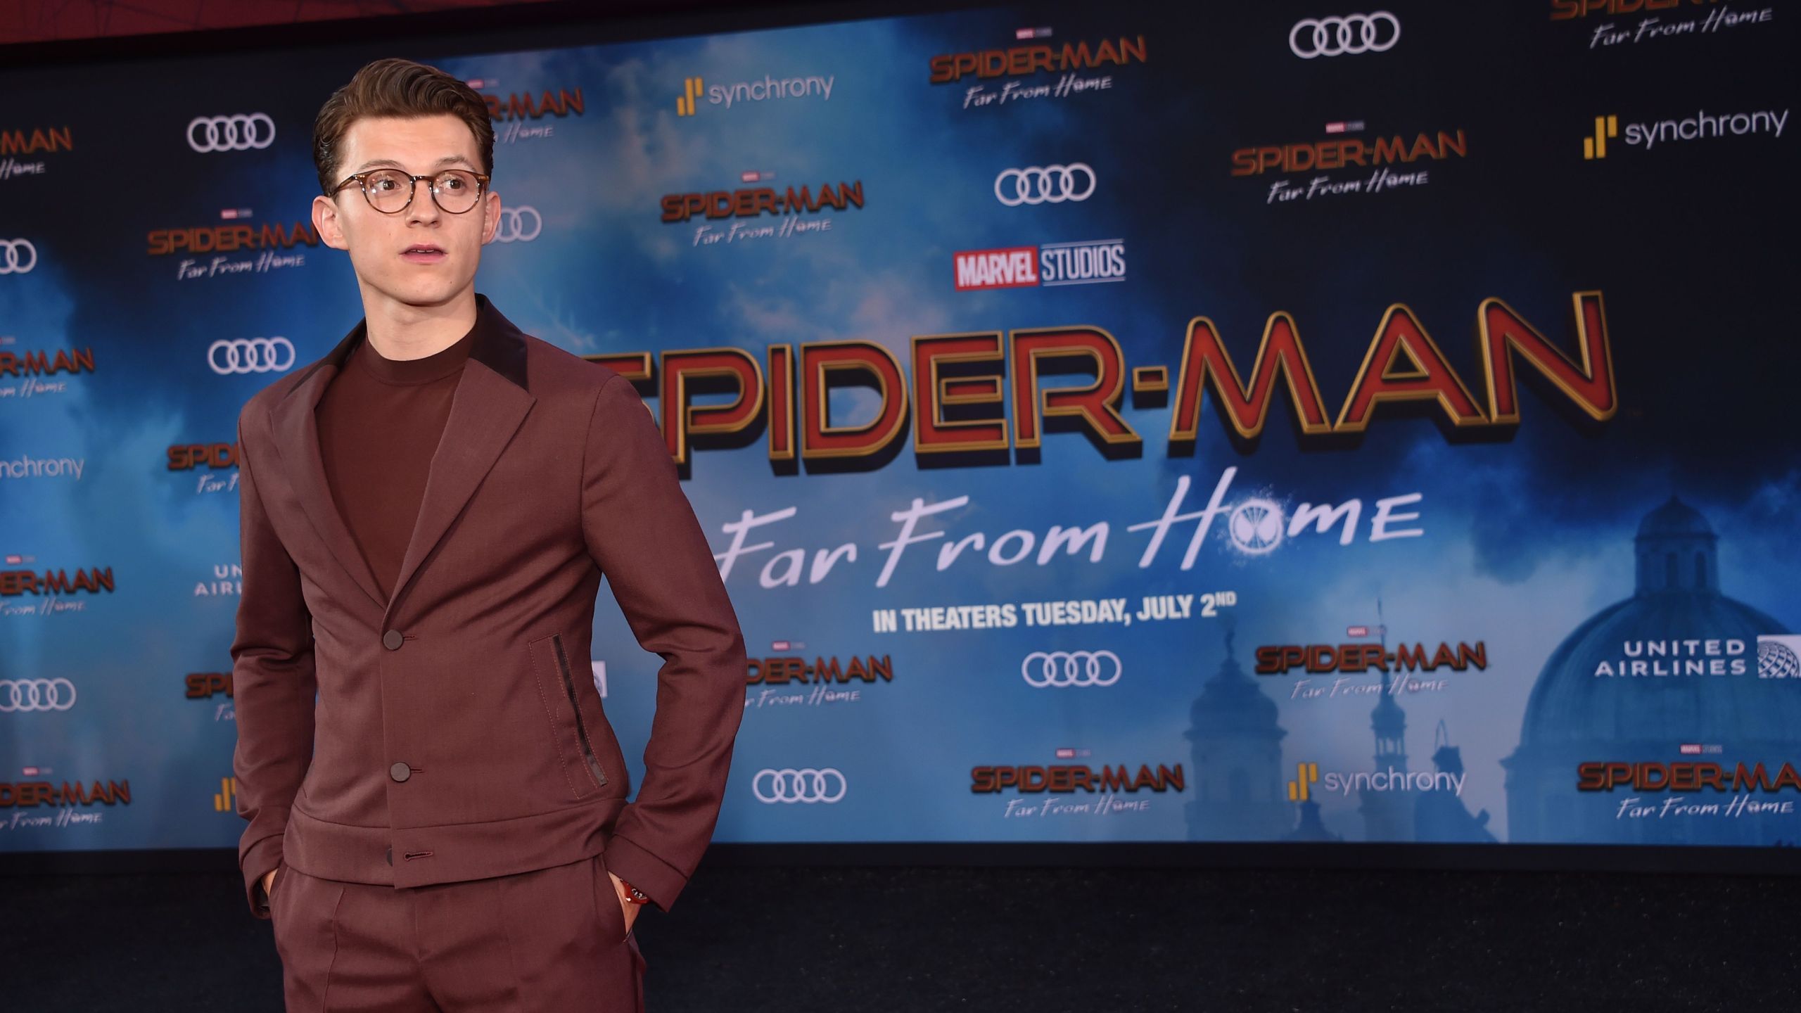
[[364,65],[348,85],[331,92],[319,106],[313,121],[313,166],[319,168],[319,189],[331,195],[342,168],[344,133],[349,124],[367,115],[398,115],[405,119],[450,114],[468,124],[481,151],[481,171],[493,175],[493,123],[488,121],[488,103],[461,79],[436,67],[389,56]]

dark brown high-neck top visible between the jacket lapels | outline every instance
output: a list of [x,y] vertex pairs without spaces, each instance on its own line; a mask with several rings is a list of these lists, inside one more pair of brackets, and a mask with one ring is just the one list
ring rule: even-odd
[[384,359],[367,321],[358,328],[362,341],[313,413],[331,499],[382,593],[393,595],[481,314],[456,344],[423,359]]

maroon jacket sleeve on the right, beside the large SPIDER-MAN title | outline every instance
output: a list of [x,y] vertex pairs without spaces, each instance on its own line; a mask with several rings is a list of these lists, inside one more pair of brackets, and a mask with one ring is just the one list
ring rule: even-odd
[[582,454],[582,534],[625,622],[663,658],[645,780],[607,867],[668,910],[713,836],[744,719],[744,634],[675,461],[623,377],[594,400]]

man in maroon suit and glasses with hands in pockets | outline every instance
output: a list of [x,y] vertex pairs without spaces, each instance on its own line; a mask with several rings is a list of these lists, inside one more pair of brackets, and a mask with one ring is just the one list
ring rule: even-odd
[[[744,636],[630,382],[474,290],[501,198],[463,81],[364,67],[313,225],[364,321],[238,418],[240,863],[288,1009],[639,1009],[639,903],[713,835]],[[589,671],[607,577],[663,658],[645,780]]]

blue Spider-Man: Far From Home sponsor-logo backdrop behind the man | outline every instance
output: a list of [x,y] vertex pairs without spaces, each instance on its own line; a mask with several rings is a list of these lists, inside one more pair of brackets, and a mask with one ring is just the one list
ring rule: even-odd
[[[396,40],[477,288],[683,461],[719,840],[1794,844],[1797,11],[1176,7]],[[0,72],[0,851],[238,838],[234,422],[360,317],[362,59]]]

